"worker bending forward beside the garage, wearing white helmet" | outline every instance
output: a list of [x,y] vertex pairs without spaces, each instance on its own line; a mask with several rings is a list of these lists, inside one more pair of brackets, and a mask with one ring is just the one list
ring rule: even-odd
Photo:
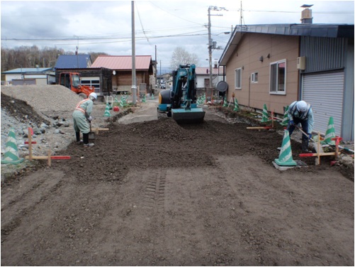
[[288,133],[291,136],[295,126],[301,124],[302,130],[308,134],[305,136],[303,133],[302,135],[302,151],[303,152],[310,152],[308,151],[308,141],[312,138],[312,131],[313,131],[313,111],[310,104],[307,104],[305,101],[295,101],[288,107]]

